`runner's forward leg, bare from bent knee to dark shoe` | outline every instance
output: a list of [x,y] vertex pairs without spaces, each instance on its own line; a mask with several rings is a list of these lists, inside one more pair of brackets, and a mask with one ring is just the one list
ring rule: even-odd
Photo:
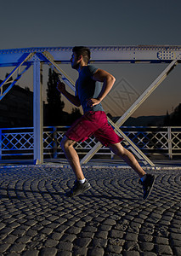
[[75,143],[75,141],[72,141],[67,137],[63,137],[63,139],[61,140],[61,148],[63,149],[66,159],[69,161],[71,168],[76,176],[76,182],[74,183],[73,188],[71,189],[71,191],[65,194],[69,197],[79,195],[82,192],[85,192],[86,190],[91,188],[91,185],[88,183],[83,175],[78,154],[73,147]]

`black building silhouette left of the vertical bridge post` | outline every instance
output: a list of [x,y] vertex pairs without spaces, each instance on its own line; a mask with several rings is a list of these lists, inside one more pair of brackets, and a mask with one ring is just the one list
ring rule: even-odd
[[[1,82],[1,81],[0,81]],[[14,85],[0,101],[0,127],[33,126],[33,92]]]

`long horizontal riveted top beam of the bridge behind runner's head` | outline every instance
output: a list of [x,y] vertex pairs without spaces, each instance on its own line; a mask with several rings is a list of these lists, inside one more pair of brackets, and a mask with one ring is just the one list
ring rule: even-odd
[[[172,45],[138,45],[138,46],[110,46],[89,47],[91,60],[96,62],[170,62],[178,58],[181,61],[181,46]],[[70,61],[71,47],[42,47],[25,49],[0,49],[0,67],[7,67],[20,62],[24,53],[48,52],[54,61],[67,63]],[[15,65],[14,65],[15,66]]]

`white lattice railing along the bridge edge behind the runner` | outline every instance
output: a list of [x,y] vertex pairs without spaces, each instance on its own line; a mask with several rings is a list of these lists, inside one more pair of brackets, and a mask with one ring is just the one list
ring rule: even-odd
[[[68,126],[48,126],[43,128],[43,155],[44,158],[63,157],[59,146]],[[122,126],[133,143],[135,143],[144,154],[164,154],[170,159],[181,155],[181,127],[143,127]],[[76,143],[76,151],[85,155],[93,148],[96,141],[94,137],[84,143]],[[123,146],[124,146],[124,142]],[[3,159],[33,159],[34,134],[32,127],[0,128],[0,160]],[[126,147],[126,146],[125,146]],[[112,157],[109,148],[102,147],[96,154]]]

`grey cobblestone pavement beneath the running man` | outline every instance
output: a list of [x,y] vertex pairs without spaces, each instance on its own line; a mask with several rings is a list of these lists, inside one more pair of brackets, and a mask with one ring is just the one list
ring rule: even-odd
[[92,189],[70,199],[69,166],[1,166],[0,255],[181,255],[180,170],[150,170],[147,201],[128,168],[83,172]]

